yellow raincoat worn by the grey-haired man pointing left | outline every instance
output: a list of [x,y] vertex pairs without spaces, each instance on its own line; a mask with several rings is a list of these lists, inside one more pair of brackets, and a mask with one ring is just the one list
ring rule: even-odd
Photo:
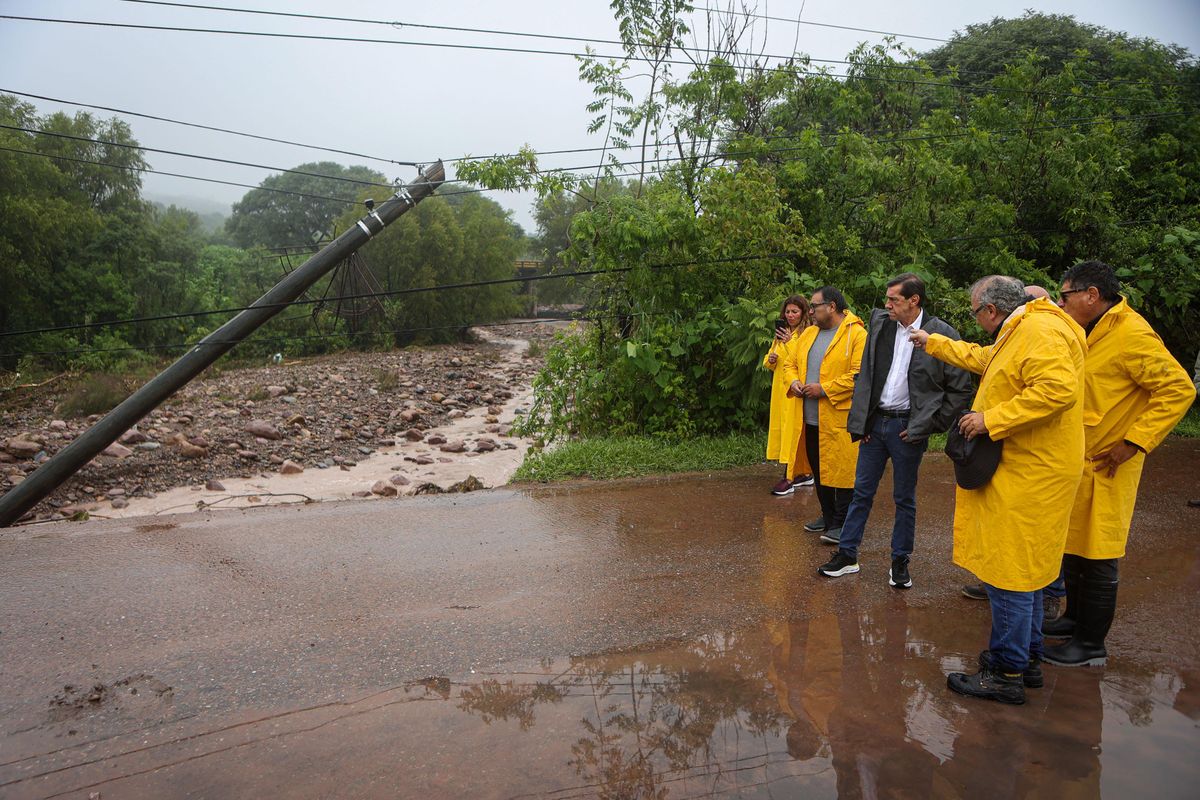
[[1058,577],[1084,457],[1084,329],[1045,299],[1018,308],[980,348],[935,333],[925,350],[982,373],[971,410],[1003,440],[986,486],[958,487],[954,563],[1009,591]]

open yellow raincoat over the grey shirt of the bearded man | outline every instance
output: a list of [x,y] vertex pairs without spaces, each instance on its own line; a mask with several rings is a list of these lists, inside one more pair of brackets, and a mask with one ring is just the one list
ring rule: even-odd
[[[805,383],[809,368],[809,349],[817,338],[816,325],[809,325],[800,333],[796,348],[788,350],[784,362],[784,378],[791,386],[793,380]],[[863,320],[846,312],[846,318],[829,342],[824,359],[821,361],[821,375],[817,383],[826,396],[818,401],[817,427],[821,432],[821,483],[841,489],[853,488],[854,468],[858,464],[858,443],[850,440],[846,431],[846,417],[850,416],[850,401],[854,396],[854,378],[858,375],[863,360],[863,348],[866,347],[866,327]],[[776,374],[779,369],[775,371]],[[797,449],[804,453],[804,398],[788,398],[794,404],[787,427],[784,428],[784,441],[796,441]]]

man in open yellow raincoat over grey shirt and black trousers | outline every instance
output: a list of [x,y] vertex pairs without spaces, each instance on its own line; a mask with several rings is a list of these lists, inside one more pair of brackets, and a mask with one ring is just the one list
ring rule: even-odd
[[[854,494],[858,443],[850,440],[846,417],[866,345],[866,329],[850,312],[846,297],[833,287],[814,291],[810,303],[814,324],[800,333],[796,348],[787,351],[782,367],[791,386],[788,395],[803,399],[802,410],[787,423],[784,441],[799,439],[821,501],[821,518],[805,523],[804,529],[828,531],[836,537]],[[856,564],[851,572],[857,571]]]

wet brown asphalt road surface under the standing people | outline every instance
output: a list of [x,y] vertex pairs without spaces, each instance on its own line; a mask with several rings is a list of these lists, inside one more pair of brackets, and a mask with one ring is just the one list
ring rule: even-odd
[[[1192,798],[1200,441],[1147,462],[1103,669],[952,694],[988,606],[774,469],[0,531],[2,798]],[[1036,487],[1030,487],[1036,501]]]

